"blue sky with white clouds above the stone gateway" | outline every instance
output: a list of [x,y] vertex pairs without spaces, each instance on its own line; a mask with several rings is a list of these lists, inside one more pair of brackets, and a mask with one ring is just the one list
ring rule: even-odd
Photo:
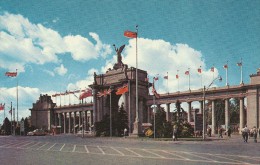
[[[122,61],[135,67],[135,39],[123,34],[135,32],[136,25],[138,68],[147,71],[150,81],[159,77],[158,93],[188,90],[188,68],[191,90],[218,76],[223,81],[213,86],[239,85],[241,59],[248,84],[249,75],[260,68],[259,15],[258,0],[0,0],[0,103],[10,118],[18,84],[21,119],[30,115],[40,94],[87,88],[94,72],[104,74],[116,62],[113,44],[126,45]],[[16,69],[17,77],[5,76]],[[168,80],[163,78],[167,73]],[[68,97],[53,101],[79,102]]]

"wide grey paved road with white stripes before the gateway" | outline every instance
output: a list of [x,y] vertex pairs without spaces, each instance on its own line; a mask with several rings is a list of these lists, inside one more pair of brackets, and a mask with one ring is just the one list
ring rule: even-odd
[[260,143],[240,136],[212,141],[0,137],[0,164],[260,164]]

